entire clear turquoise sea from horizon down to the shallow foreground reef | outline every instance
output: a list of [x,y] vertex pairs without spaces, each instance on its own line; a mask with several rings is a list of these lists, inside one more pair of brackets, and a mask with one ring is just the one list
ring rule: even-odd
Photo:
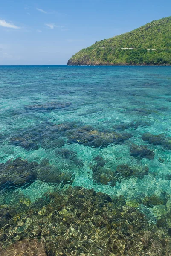
[[171,255],[171,67],[0,66],[0,241]]

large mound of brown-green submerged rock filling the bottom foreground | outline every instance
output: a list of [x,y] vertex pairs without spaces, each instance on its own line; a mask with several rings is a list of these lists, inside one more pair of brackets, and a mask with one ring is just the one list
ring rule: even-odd
[[130,204],[81,187],[49,193],[1,228],[1,254],[169,256],[168,225],[148,222]]

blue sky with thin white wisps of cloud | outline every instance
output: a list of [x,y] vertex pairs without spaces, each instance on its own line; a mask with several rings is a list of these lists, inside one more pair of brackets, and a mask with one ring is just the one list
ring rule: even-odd
[[0,65],[66,65],[96,41],[168,16],[170,0],[1,0]]

